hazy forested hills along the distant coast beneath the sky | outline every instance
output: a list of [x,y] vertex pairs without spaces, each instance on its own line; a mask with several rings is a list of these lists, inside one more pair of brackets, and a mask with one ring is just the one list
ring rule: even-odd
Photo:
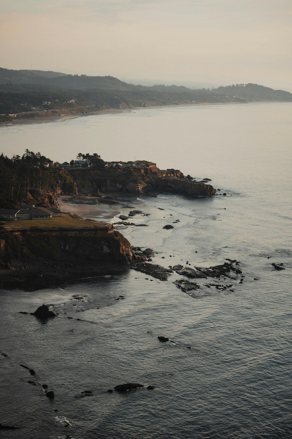
[[257,84],[193,90],[177,85],[133,85],[113,76],[0,68],[0,122],[109,108],[253,101],[291,102],[292,94]]

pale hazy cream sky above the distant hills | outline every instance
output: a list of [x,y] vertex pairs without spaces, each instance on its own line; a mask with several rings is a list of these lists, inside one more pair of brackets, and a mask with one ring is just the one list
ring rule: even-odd
[[0,67],[292,90],[291,0],[0,0]]

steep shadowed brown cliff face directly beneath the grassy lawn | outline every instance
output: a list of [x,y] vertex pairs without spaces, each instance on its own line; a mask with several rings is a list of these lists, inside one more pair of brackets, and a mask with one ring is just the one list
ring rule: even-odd
[[115,261],[129,263],[133,253],[129,241],[113,226],[102,230],[30,229],[0,232],[0,265],[37,264],[39,259],[73,263]]

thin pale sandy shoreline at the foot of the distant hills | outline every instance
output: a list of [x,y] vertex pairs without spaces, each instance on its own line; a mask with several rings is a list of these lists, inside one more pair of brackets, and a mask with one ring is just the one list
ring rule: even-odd
[[[201,107],[201,106],[211,106],[211,105],[235,105],[235,104],[268,104],[275,102],[285,102],[285,101],[253,101],[253,102],[199,102],[194,104],[169,104],[169,105],[153,105],[149,107],[133,107],[133,108],[108,108],[107,110],[94,111],[88,113],[76,113],[76,114],[64,114],[64,115],[54,115],[54,116],[39,116],[35,118],[22,118],[22,119],[12,119],[10,121],[0,122],[1,126],[14,126],[14,125],[27,125],[35,123],[45,123],[45,122],[55,122],[62,118],[75,119],[79,117],[93,116],[93,115],[104,115],[104,114],[120,114],[123,112],[132,112],[134,110],[148,110],[149,108],[178,108],[178,107]],[[27,113],[28,115],[31,113]]]

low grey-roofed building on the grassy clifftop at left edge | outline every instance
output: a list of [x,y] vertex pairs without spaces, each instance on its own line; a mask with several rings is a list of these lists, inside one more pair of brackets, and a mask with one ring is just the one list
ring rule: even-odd
[[61,216],[61,211],[55,208],[21,205],[18,209],[0,209],[0,220],[20,221],[30,219],[51,219]]

